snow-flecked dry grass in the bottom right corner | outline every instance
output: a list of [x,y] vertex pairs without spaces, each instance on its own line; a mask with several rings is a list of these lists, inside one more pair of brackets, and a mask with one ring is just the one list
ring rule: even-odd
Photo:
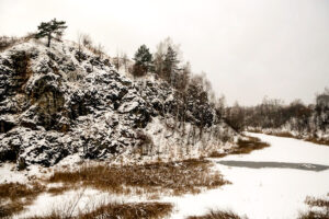
[[[329,193],[327,194],[329,197]],[[329,218],[329,199],[306,197],[305,203],[310,207],[317,207],[321,210],[309,209],[305,214],[300,214],[298,219],[328,219]]]

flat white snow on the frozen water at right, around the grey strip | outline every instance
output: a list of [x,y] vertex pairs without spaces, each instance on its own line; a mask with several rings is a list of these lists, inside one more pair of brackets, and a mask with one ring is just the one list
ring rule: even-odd
[[[214,161],[273,161],[329,165],[329,147],[263,134],[250,134],[271,147],[250,154],[228,155]],[[329,170],[249,169],[216,164],[232,184],[200,195],[168,197],[177,211],[171,218],[203,215],[209,208],[232,210],[250,219],[292,219],[307,210],[306,196],[324,197],[329,192]]]

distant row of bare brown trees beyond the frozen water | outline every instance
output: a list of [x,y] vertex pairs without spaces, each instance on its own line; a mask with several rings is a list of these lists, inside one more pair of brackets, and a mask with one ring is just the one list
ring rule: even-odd
[[316,95],[316,103],[305,105],[300,100],[283,104],[281,100],[264,99],[256,106],[236,104],[226,110],[230,124],[236,129],[259,128],[296,131],[298,134],[329,129],[329,89]]

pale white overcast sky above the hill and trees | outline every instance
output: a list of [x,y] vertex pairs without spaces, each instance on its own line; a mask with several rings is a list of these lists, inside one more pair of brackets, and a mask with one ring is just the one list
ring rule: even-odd
[[329,87],[327,0],[0,0],[0,35],[53,18],[67,22],[66,38],[89,33],[110,55],[154,51],[170,36],[228,104],[311,103]]

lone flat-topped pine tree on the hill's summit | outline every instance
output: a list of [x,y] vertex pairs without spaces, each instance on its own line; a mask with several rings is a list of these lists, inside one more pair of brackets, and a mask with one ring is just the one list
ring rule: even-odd
[[67,26],[65,25],[65,21],[56,21],[56,19],[53,19],[49,22],[42,22],[38,26],[37,30],[38,32],[36,33],[35,37],[36,38],[43,38],[43,37],[48,37],[48,43],[47,47],[50,46],[50,41],[54,38],[53,34],[57,36],[61,36],[63,32]]

